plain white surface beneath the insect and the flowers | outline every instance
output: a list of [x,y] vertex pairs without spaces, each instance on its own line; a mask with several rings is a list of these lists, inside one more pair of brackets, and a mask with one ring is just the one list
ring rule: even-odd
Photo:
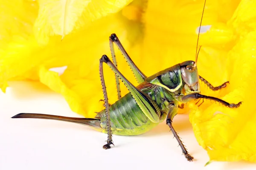
[[[198,145],[188,115],[174,127],[194,161],[186,161],[164,123],[140,136],[113,136],[115,147],[103,150],[107,135],[79,124],[44,119],[11,119],[17,113],[81,117],[60,94],[36,82],[12,82],[0,92],[0,170],[240,170],[256,164],[213,162]],[[36,85],[36,86],[35,86]]]

